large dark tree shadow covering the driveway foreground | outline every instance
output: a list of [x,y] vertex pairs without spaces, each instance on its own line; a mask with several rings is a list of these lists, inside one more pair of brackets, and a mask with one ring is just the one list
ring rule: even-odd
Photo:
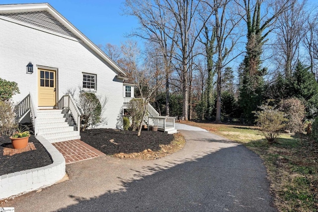
[[242,145],[165,162],[121,179],[123,189],[90,199],[70,195],[78,203],[58,211],[277,211],[262,160]]

